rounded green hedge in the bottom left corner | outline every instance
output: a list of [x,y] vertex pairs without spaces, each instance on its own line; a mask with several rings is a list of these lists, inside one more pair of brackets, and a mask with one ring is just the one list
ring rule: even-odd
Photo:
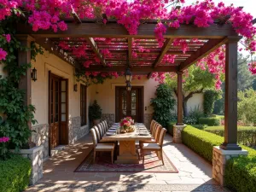
[[31,174],[31,162],[15,154],[0,160],[0,192],[20,192],[26,189]]

